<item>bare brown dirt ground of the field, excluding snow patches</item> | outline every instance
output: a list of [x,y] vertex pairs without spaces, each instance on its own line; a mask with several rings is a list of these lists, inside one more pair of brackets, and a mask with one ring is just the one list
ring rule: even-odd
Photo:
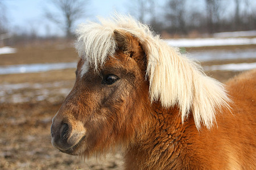
[[[15,54],[2,54],[0,58],[0,65],[73,62],[77,60],[77,54],[73,48],[26,48]],[[234,62],[256,62],[256,59],[202,64]],[[207,74],[225,82],[239,72],[209,71]],[[84,159],[63,154],[52,147],[51,119],[74,81],[75,69],[0,75],[0,169],[123,168],[120,153],[106,158]]]

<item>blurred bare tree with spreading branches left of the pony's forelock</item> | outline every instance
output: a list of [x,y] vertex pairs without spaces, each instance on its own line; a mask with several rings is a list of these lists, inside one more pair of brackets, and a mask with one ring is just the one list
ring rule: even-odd
[[66,36],[72,37],[72,28],[76,20],[84,17],[86,13],[86,0],[49,0],[51,5],[55,6],[57,11],[46,10],[46,18],[59,27],[65,29]]

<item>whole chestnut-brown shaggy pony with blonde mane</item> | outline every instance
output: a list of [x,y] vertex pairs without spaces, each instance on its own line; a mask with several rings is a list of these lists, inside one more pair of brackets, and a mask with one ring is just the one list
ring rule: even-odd
[[76,35],[76,82],[52,119],[55,148],[121,148],[126,169],[256,169],[256,70],[221,84],[131,16],[81,24]]

